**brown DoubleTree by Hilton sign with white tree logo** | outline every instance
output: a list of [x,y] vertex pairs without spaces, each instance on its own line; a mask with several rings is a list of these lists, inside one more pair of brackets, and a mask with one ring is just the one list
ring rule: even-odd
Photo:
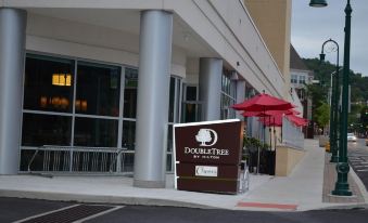
[[242,129],[239,119],[174,124],[176,188],[237,194]]

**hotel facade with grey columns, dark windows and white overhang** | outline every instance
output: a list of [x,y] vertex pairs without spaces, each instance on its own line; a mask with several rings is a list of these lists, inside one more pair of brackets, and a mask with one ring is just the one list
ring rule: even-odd
[[163,187],[174,123],[287,84],[243,1],[3,0],[0,173],[114,165]]

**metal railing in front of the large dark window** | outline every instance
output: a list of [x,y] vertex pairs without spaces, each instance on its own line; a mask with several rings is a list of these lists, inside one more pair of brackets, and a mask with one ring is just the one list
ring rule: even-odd
[[[113,173],[125,171],[126,148],[43,145],[28,161],[30,172]],[[33,165],[37,160],[37,170]]]

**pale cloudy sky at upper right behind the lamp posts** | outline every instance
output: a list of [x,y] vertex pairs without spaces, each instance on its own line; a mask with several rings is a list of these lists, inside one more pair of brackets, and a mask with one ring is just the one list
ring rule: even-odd
[[[346,0],[327,0],[328,6],[312,8],[309,0],[292,0],[291,43],[301,57],[319,57],[322,43],[333,39],[339,44],[340,66],[344,55]],[[368,76],[368,0],[351,0],[351,69]],[[337,63],[332,44],[325,47],[326,60]]]

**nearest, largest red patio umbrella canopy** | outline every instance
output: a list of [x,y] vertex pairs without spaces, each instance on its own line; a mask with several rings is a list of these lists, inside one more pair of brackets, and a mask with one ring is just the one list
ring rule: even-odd
[[254,97],[246,100],[240,104],[231,106],[237,110],[246,112],[266,112],[266,110],[288,110],[294,106],[284,100],[277,99],[266,93],[257,94]]

